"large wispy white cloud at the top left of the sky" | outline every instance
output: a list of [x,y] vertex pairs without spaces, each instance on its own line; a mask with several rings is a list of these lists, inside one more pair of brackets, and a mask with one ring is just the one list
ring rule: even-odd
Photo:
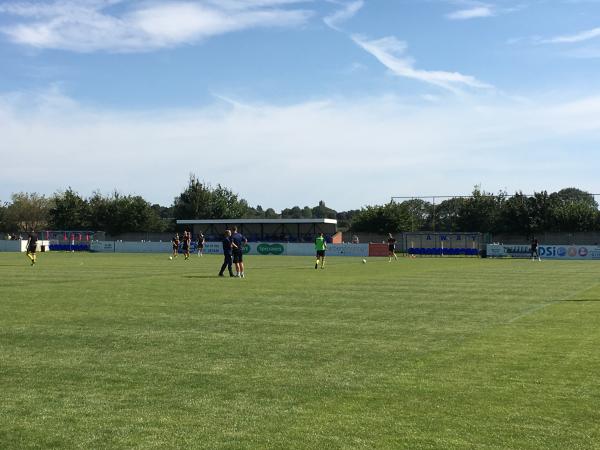
[[[108,10],[121,3],[120,13]],[[76,52],[139,52],[195,43],[213,36],[257,27],[295,27],[311,11],[300,1],[223,2],[60,1],[6,3],[0,13],[21,20],[1,31],[13,42]],[[286,8],[286,6],[292,6]]]

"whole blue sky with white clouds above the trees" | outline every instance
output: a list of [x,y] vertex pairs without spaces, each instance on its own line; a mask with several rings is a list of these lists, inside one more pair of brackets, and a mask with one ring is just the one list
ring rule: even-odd
[[598,191],[600,0],[3,0],[0,67],[2,201]]

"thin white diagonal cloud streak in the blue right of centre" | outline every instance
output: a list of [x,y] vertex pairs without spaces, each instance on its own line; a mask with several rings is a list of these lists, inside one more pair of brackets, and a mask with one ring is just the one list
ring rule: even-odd
[[452,92],[458,92],[461,86],[478,89],[492,88],[491,85],[483,83],[475,77],[458,72],[416,69],[412,58],[406,55],[408,47],[406,42],[393,36],[369,40],[363,36],[354,35],[352,40],[399,77],[422,81]]

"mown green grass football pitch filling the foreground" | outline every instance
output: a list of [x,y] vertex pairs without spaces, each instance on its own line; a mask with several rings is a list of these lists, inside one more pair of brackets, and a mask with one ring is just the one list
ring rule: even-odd
[[600,448],[600,262],[0,253],[0,448]]

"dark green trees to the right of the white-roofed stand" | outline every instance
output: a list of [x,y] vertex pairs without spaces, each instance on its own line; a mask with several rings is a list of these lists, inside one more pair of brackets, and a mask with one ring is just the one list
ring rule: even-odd
[[437,204],[412,199],[367,206],[355,216],[352,230],[479,231],[532,236],[541,232],[600,231],[600,213],[594,196],[577,188],[532,195],[493,195],[476,186],[470,196],[448,198]]

